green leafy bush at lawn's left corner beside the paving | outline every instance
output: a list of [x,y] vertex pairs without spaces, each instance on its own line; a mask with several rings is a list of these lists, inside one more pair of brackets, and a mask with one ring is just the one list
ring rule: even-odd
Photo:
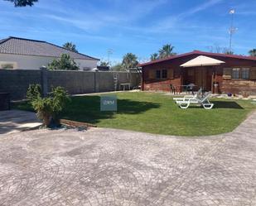
[[62,87],[52,88],[49,97],[43,98],[39,84],[30,85],[27,90],[27,98],[35,109],[37,117],[44,122],[46,127],[50,126],[51,121],[55,125],[60,124],[60,114],[70,100],[68,93]]

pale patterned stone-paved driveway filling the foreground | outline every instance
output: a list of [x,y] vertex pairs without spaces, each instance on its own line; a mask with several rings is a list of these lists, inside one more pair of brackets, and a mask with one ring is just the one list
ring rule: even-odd
[[114,129],[0,136],[1,205],[256,205],[256,113],[200,138]]

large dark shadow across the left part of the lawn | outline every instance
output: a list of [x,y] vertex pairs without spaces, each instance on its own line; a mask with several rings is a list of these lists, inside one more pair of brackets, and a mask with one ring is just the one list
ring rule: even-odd
[[74,97],[63,113],[63,118],[79,122],[98,123],[101,119],[111,119],[114,114],[138,114],[152,108],[160,108],[159,103],[138,102],[118,99],[117,112],[100,111],[99,96]]

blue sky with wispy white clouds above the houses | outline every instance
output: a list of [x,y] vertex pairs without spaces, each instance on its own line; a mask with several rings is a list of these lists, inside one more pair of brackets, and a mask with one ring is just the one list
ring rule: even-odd
[[0,38],[20,36],[63,45],[117,62],[133,52],[140,61],[163,44],[177,53],[229,46],[229,9],[236,14],[233,49],[247,55],[256,47],[255,0],[39,0],[34,7],[13,7],[0,0]]

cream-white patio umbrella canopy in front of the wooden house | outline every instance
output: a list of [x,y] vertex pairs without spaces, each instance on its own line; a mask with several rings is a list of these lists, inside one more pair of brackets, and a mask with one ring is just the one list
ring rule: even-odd
[[182,67],[193,67],[193,66],[213,66],[213,65],[220,65],[224,64],[225,62],[222,60],[215,60],[214,58],[210,58],[205,55],[197,56],[193,60],[189,60],[183,65]]

